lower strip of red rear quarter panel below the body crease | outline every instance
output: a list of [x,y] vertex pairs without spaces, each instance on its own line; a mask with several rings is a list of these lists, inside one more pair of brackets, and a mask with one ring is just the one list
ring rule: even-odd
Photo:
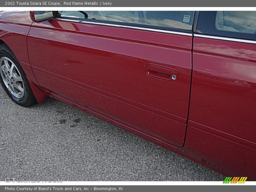
[[256,180],[255,149],[188,122],[184,154],[226,176]]

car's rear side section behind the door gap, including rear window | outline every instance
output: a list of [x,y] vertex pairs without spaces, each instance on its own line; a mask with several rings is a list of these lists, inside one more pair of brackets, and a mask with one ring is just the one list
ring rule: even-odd
[[256,177],[255,17],[199,13],[185,144],[208,166],[249,180]]

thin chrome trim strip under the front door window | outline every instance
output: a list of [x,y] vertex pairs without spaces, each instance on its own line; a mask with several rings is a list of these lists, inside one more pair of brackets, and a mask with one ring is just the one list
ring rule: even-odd
[[[116,25],[116,24],[110,24],[110,23],[98,23],[98,22],[92,22],[92,21],[82,21],[82,20],[72,20],[72,19],[61,19],[61,18],[56,18],[56,19],[57,19],[57,20],[63,20],[63,21],[70,21],[70,22],[87,23],[87,24],[94,24],[94,25],[104,25],[104,26],[118,27],[118,28],[139,29],[139,30],[144,30],[144,31],[153,31],[153,32],[160,32],[160,33],[169,33],[169,34],[175,34],[175,35],[192,36],[192,32],[191,32],[191,33],[184,33],[184,32],[169,31],[169,30],[161,30],[161,29],[152,29],[152,28],[144,28],[144,27],[134,27],[134,26],[128,26],[128,25]],[[191,29],[191,31],[192,31],[192,29]]]

